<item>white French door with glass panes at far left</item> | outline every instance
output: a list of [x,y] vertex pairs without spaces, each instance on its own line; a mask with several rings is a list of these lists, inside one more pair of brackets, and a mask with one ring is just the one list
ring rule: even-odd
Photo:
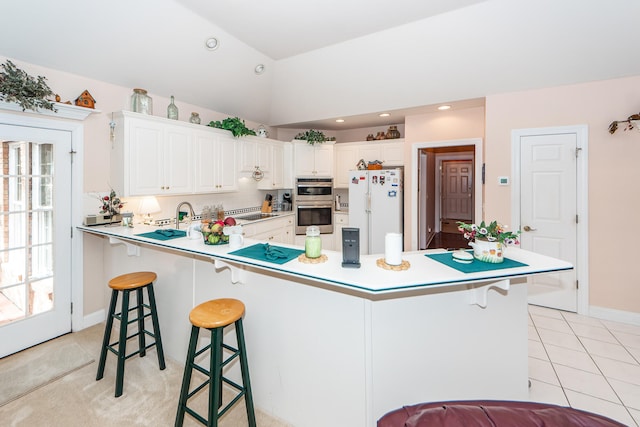
[[0,357],[71,331],[71,140],[0,124]]

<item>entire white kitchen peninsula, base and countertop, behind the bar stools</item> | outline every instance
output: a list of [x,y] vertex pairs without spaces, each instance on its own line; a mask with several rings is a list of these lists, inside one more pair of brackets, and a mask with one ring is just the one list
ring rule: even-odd
[[374,426],[424,401],[526,399],[526,277],[572,268],[517,248],[506,256],[523,265],[474,273],[424,251],[403,254],[405,271],[378,267],[381,255],[345,269],[333,251],[325,263],[279,265],[226,245],[137,236],[151,227],[79,229],[103,239],[104,283],[133,270],[158,274],[165,353],[180,363],[191,308],[242,300],[254,401],[295,426]]

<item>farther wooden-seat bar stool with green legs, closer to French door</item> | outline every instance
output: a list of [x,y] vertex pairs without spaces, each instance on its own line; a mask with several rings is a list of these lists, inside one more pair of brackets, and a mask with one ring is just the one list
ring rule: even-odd
[[[160,370],[165,368],[164,352],[162,351],[162,339],[160,338],[160,326],[158,324],[158,312],[156,310],[156,299],[153,294],[153,282],[158,276],[150,271],[141,271],[136,273],[123,274],[109,280],[111,291],[111,303],[109,304],[109,314],[107,315],[107,326],[104,329],[104,339],[102,341],[102,351],[100,353],[100,363],[98,364],[98,375],[96,381],[102,379],[104,375],[104,365],[107,359],[107,350],[111,351],[118,357],[118,367],[116,371],[116,397],[122,395],[122,385],[124,381],[124,361],[136,354],[144,357],[147,349],[156,346],[158,353],[158,364]],[[147,289],[149,304],[144,303],[143,289]],[[129,294],[136,291],[136,306],[129,307]],[[122,292],[122,306],[120,312],[116,313],[116,304],[118,302],[118,293]],[[145,310],[147,309],[147,310]],[[129,312],[137,312],[134,319],[129,319]],[[146,312],[145,312],[146,311]],[[145,318],[151,317],[153,324],[153,332],[145,329]],[[118,341],[109,343],[111,340],[111,328],[113,327],[113,319],[120,321],[120,334]],[[127,335],[127,327],[131,323],[137,323],[137,332]],[[146,344],[145,335],[149,335],[154,339],[151,344]],[[127,340],[138,337],[138,350],[127,354]],[[116,348],[117,345],[117,348]]]

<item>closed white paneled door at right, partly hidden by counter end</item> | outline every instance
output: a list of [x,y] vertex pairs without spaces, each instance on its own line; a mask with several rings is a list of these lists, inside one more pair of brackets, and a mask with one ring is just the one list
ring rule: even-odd
[[520,150],[521,247],[575,267],[529,278],[529,303],[576,312],[578,134],[521,134],[514,144]]

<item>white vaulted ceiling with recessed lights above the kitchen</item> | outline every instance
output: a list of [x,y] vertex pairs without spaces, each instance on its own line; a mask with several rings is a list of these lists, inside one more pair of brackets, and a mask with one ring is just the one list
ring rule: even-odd
[[271,125],[640,74],[637,0],[4,3],[0,55]]

